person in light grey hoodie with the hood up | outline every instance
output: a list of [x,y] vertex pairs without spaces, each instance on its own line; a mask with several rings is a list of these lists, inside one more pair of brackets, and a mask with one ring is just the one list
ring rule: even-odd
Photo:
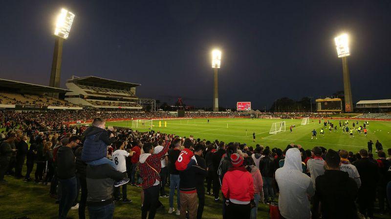
[[283,167],[276,170],[276,181],[280,188],[279,210],[285,219],[310,219],[308,197],[315,193],[310,177],[303,173],[299,149],[286,151]]

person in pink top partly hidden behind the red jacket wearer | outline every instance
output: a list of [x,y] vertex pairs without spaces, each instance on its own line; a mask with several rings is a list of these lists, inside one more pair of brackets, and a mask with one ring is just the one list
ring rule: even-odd
[[260,169],[255,166],[254,160],[251,157],[244,159],[244,166],[251,173],[254,182],[254,206],[251,208],[250,219],[257,219],[258,203],[264,200],[263,197],[263,181]]

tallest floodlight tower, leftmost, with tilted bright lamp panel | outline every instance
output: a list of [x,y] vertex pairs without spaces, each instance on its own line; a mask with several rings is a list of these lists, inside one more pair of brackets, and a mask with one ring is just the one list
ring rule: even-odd
[[63,43],[64,40],[68,38],[70,28],[72,26],[73,19],[75,15],[62,8],[60,14],[57,16],[56,28],[54,30],[54,35],[56,36],[56,41],[54,43],[54,53],[53,53],[53,62],[52,69],[50,73],[49,86],[51,87],[60,87],[60,72],[61,72],[61,60],[63,56]]

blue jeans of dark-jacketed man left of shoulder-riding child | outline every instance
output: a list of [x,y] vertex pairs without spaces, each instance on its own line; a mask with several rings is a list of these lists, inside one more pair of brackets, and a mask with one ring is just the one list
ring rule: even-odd
[[59,179],[61,183],[61,199],[58,208],[58,218],[66,219],[66,215],[77,195],[77,179],[72,177],[70,179]]

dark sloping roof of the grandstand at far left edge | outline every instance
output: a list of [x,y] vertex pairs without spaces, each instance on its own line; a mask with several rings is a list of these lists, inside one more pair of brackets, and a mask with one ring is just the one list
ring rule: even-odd
[[0,79],[0,87],[9,88],[11,90],[22,90],[22,91],[33,91],[33,92],[42,92],[42,93],[65,93],[70,92],[71,90],[57,88],[57,87],[48,87],[38,84],[26,83],[15,80],[6,80]]

